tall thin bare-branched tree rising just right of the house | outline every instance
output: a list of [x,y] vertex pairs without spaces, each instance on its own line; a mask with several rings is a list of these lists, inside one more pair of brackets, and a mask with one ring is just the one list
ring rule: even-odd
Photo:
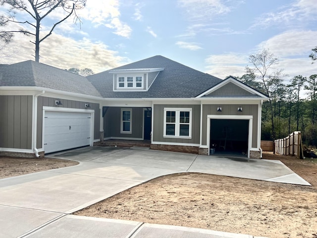
[[263,83],[264,92],[269,97],[269,108],[271,115],[271,136],[272,139],[276,139],[276,132],[274,127],[274,112],[272,105],[272,95],[270,87],[275,85],[275,82],[281,83],[281,80],[277,80],[277,77],[282,77],[282,70],[274,70],[274,65],[278,64],[278,59],[267,49],[263,49],[262,52],[251,55],[249,62],[252,67],[247,66],[246,72],[254,74],[258,80]]

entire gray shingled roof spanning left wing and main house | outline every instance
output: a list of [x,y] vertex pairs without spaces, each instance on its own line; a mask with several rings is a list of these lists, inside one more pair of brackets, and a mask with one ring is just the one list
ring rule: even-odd
[[[149,73],[156,79],[148,91],[113,91],[110,70],[83,77],[53,66],[27,60],[0,65],[0,86],[37,86],[103,98],[192,98],[207,91],[222,80],[162,56],[126,64],[117,69],[164,68]],[[137,70],[136,70],[137,71]]]

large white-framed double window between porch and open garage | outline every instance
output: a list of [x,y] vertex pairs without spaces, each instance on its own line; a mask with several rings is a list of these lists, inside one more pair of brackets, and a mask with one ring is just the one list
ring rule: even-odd
[[191,138],[192,109],[164,108],[164,137]]

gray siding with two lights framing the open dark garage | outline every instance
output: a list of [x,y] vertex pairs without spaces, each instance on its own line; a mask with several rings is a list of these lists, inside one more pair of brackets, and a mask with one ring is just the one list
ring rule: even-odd
[[[221,107],[222,112],[217,112],[217,107]],[[237,108],[242,107],[242,112],[237,112]],[[236,116],[253,116],[253,126],[252,126],[252,147],[257,148],[258,141],[258,105],[203,105],[203,138],[202,145],[207,145],[207,136],[209,131],[207,131],[207,115],[236,115]],[[237,117],[239,119],[239,117]]]

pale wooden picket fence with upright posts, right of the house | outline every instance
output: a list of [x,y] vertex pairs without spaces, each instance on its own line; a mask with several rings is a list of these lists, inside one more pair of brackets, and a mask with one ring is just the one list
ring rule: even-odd
[[294,131],[283,139],[274,141],[275,153],[280,155],[293,155],[303,159],[302,138],[300,131]]

